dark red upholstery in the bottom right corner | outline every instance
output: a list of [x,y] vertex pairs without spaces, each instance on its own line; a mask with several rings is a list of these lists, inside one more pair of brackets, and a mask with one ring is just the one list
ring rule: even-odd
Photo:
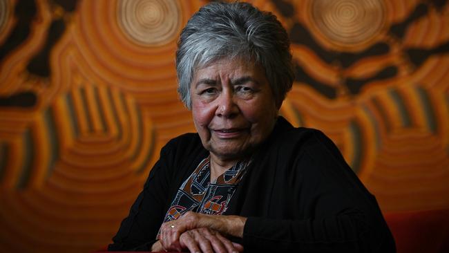
[[384,214],[398,253],[449,252],[449,209]]

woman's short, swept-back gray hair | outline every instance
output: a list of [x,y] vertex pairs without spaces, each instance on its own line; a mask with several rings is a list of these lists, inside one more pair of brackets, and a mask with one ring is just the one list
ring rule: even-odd
[[178,41],[178,93],[188,109],[195,70],[224,57],[242,57],[260,64],[278,106],[292,88],[290,41],[276,16],[249,3],[213,2],[189,19]]

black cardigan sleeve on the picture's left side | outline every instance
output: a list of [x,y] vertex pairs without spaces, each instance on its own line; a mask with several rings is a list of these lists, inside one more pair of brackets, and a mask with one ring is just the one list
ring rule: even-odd
[[109,251],[149,251],[164,219],[164,206],[169,198],[169,178],[173,144],[169,142],[160,152],[144,187],[122,221]]

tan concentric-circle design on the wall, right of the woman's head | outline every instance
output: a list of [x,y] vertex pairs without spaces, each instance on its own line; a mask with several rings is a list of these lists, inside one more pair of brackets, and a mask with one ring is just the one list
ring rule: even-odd
[[380,0],[310,1],[312,23],[330,41],[354,46],[369,41],[385,22]]

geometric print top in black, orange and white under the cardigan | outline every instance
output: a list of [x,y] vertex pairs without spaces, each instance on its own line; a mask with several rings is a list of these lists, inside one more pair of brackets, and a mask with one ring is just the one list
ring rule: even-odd
[[204,158],[178,189],[169,211],[166,212],[164,223],[189,211],[221,215],[226,211],[236,186],[250,163],[249,160],[239,161],[218,176],[215,182],[211,182],[211,158]]

